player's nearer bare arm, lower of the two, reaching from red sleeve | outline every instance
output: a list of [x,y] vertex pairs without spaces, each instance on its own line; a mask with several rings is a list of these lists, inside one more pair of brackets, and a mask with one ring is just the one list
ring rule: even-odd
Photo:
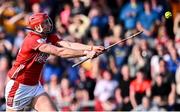
[[87,56],[93,57],[95,55],[95,52],[89,52],[84,50],[74,50],[70,48],[64,48],[64,47],[56,47],[54,45],[50,44],[42,44],[39,48],[39,51],[48,53],[55,56],[60,56],[63,58],[75,58],[75,57],[81,57],[81,56]]

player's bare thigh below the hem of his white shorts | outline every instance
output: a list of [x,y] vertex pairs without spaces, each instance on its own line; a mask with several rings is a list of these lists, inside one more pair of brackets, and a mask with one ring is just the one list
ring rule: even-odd
[[58,111],[55,104],[46,92],[36,96],[33,99],[32,105],[37,111]]

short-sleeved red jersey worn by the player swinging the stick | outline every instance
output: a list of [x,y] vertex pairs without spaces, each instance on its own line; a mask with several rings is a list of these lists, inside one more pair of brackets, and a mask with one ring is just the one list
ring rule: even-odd
[[24,39],[16,61],[8,72],[8,76],[26,85],[36,85],[39,82],[41,70],[49,54],[40,52],[38,48],[45,43],[55,45],[60,41],[55,34],[42,38],[30,32]]

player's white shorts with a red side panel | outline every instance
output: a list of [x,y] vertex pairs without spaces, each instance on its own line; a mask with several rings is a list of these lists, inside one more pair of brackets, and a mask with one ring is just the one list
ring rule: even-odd
[[22,110],[31,104],[33,98],[44,92],[41,84],[29,86],[10,80],[5,90],[6,108]]

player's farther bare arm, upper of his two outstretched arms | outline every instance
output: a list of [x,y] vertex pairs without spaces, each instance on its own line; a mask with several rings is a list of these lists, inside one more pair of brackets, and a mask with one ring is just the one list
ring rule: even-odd
[[69,42],[63,40],[59,41],[57,44],[75,50],[89,50],[89,51],[94,50],[96,52],[102,52],[104,50],[103,46],[91,46],[91,45],[85,45],[81,43],[75,43],[75,42]]

